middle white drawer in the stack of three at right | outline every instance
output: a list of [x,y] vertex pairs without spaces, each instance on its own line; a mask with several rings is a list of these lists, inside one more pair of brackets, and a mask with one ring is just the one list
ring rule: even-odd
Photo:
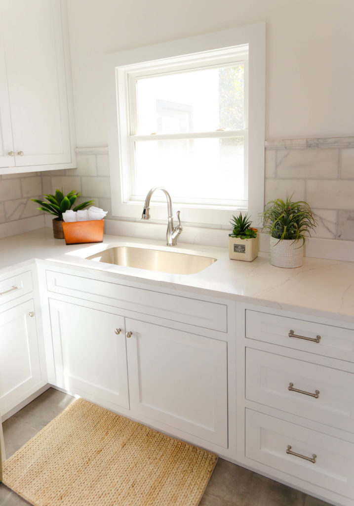
[[246,399],[354,432],[350,372],[246,348]]

